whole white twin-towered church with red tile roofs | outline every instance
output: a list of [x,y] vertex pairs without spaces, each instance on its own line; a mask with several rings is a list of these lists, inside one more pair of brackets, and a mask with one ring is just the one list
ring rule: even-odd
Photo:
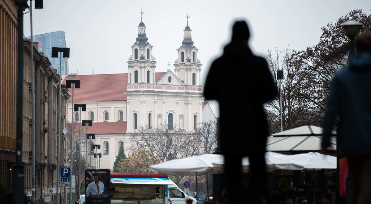
[[[156,72],[157,62],[145,30],[141,21],[138,37],[131,46],[132,55],[127,61],[128,73],[69,74],[63,78],[63,84],[68,78],[81,81],[81,88],[74,89],[73,103],[86,104],[86,111],[81,116],[74,111],[72,119],[71,96],[66,104],[66,117],[68,121],[93,121],[87,130],[96,134],[92,143],[101,145],[98,150],[102,153],[100,168],[112,169],[120,146],[129,153],[130,133],[141,126],[157,128],[167,124],[168,129],[180,127],[190,132],[202,121],[216,121],[209,103],[203,100],[202,64],[197,58],[198,49],[193,45],[188,23],[182,45],[177,49],[174,71],[169,64],[167,72]],[[72,88],[69,94],[72,95]],[[86,137],[86,127],[81,128],[81,135]],[[81,150],[85,151],[85,145],[81,145]],[[92,153],[89,145],[87,153],[83,155],[89,163]],[[92,159],[92,165],[94,161]]]

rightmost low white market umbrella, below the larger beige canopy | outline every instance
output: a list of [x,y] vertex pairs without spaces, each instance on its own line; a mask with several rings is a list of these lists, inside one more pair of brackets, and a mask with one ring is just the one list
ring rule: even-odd
[[285,159],[303,165],[305,170],[336,169],[337,162],[336,157],[318,152],[286,155]]

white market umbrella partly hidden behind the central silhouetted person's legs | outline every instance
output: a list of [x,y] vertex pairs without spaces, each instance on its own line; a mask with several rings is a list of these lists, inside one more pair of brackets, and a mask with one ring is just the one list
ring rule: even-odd
[[[298,163],[287,160],[286,154],[280,154],[268,151],[265,153],[265,163],[267,171],[274,171],[277,169],[281,170],[302,170],[304,167]],[[218,172],[222,172],[224,169],[224,160],[219,163],[214,163],[214,169]],[[249,172],[250,162],[249,157],[242,158],[242,171]]]

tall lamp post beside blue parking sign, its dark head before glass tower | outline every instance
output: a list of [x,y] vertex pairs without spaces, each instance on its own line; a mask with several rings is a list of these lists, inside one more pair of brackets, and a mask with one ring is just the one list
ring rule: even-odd
[[59,204],[59,170],[60,170],[60,109],[61,109],[61,103],[62,103],[62,76],[61,75],[61,70],[62,70],[62,53],[63,53],[63,58],[69,58],[69,48],[68,47],[52,47],[52,57],[53,58],[58,58],[58,53],[59,54],[59,88],[58,88],[58,100],[57,100],[57,192],[56,192],[56,204]]

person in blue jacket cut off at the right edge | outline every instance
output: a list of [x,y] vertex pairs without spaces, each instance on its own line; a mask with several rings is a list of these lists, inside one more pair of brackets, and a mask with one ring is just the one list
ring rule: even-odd
[[352,203],[366,204],[371,203],[371,31],[356,38],[355,53],[332,79],[321,153],[327,153],[338,117],[336,133],[341,154],[348,157]]

